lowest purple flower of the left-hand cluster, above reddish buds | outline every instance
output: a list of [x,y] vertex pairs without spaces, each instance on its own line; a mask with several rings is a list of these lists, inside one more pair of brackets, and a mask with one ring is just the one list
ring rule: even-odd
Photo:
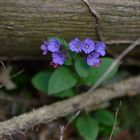
[[65,55],[61,52],[55,52],[52,54],[52,61],[55,64],[62,65],[65,62]]

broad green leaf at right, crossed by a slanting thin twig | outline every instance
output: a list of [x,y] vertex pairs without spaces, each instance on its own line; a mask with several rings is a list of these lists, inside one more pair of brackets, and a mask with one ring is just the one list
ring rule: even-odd
[[[88,69],[88,77],[86,77],[85,79],[82,79],[82,83],[86,84],[86,85],[92,85],[94,83],[96,83],[96,81],[106,72],[106,70],[109,68],[109,66],[113,63],[113,59],[111,58],[102,58],[102,63],[99,67],[90,67]],[[114,76],[116,74],[118,70],[118,66],[116,66],[111,72],[110,74],[106,77],[105,80],[111,78],[112,76]]]

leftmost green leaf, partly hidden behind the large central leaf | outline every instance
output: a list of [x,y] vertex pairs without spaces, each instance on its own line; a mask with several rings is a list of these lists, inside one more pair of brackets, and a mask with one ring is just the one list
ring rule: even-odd
[[47,93],[50,75],[50,72],[41,71],[31,79],[31,82],[36,89]]

